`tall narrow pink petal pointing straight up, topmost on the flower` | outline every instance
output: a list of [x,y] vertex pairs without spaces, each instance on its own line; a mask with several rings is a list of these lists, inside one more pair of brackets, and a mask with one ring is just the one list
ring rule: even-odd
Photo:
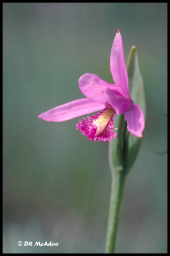
[[128,72],[123,52],[123,40],[119,30],[116,30],[116,36],[111,50],[110,71],[115,84],[119,85],[123,89],[123,96],[130,97],[128,87]]

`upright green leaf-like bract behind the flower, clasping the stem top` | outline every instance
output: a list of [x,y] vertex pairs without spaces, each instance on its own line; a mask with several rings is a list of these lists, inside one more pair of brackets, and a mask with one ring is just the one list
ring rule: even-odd
[[[145,91],[143,79],[139,70],[138,54],[136,47],[132,46],[127,62],[129,76],[130,96],[146,115]],[[117,137],[109,145],[109,162],[112,171],[123,170],[125,174],[132,168],[138,155],[141,138],[128,132],[124,114],[115,116],[114,126],[118,128]]]

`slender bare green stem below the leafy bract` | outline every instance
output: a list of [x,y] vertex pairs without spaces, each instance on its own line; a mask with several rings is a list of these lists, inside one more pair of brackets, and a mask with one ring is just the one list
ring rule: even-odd
[[106,253],[114,253],[119,209],[122,201],[125,175],[122,170],[112,172],[109,220],[107,225]]

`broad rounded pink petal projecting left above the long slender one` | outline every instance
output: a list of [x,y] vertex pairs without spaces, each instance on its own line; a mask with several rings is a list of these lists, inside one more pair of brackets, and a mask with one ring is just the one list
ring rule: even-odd
[[90,73],[84,73],[84,75],[79,78],[79,88],[82,94],[89,98],[89,100],[103,104],[107,101],[107,97],[104,93],[105,88],[116,89],[120,93],[123,93],[122,88],[117,87],[117,85],[109,84],[99,78],[99,76]]

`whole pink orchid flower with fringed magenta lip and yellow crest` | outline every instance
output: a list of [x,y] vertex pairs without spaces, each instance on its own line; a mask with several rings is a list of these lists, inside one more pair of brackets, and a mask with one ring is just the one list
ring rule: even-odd
[[113,129],[117,129],[113,128],[114,115],[124,113],[129,132],[142,137],[145,118],[139,105],[130,98],[123,41],[119,30],[116,30],[111,50],[110,71],[115,84],[109,84],[97,75],[84,73],[79,78],[79,88],[86,98],[51,108],[38,117],[45,121],[60,122],[102,110],[94,116],[79,120],[76,126],[88,139],[107,142],[116,137],[116,132],[113,132]]

